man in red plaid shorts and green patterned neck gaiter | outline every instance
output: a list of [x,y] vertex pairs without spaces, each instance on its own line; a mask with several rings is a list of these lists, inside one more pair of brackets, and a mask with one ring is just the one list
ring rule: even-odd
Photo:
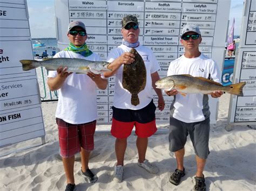
[[[86,29],[83,22],[73,21],[68,27],[70,44],[54,58],[79,58],[100,61],[98,54],[92,53],[87,47]],[[60,155],[65,169],[66,191],[75,190],[73,167],[75,154],[80,152],[81,171],[87,181],[98,180],[97,175],[89,169],[89,156],[94,148],[93,136],[97,119],[96,88],[106,89],[107,80],[100,74],[89,72],[75,74],[67,72],[67,67],[59,67],[50,71],[48,86],[51,91],[58,91],[56,122],[59,132]]]

